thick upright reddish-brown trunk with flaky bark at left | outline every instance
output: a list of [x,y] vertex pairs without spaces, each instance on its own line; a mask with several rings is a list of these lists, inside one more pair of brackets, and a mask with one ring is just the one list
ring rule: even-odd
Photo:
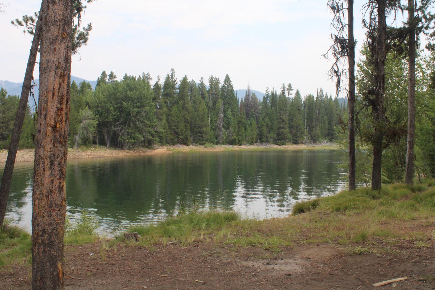
[[32,289],[64,289],[72,1],[43,0],[33,173]]

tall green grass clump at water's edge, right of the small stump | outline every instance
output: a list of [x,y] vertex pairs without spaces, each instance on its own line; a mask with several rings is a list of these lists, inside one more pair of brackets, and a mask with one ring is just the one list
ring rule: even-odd
[[[235,212],[181,212],[156,225],[131,226],[129,232],[137,232],[146,244],[177,241],[189,243],[221,230],[241,220]],[[120,237],[118,237],[120,238]]]

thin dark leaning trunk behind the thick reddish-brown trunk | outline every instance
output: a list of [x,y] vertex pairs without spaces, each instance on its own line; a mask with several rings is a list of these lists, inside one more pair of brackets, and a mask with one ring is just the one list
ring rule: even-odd
[[[42,7],[42,4],[41,4]],[[6,164],[4,166],[3,178],[0,186],[0,228],[3,227],[4,217],[6,214],[7,199],[9,197],[10,183],[12,181],[13,167],[17,157],[18,143],[20,143],[21,129],[23,128],[24,118],[27,113],[27,101],[32,84],[33,69],[35,68],[36,56],[41,36],[41,18],[42,10],[36,23],[33,34],[33,42],[30,47],[29,59],[27,60],[26,73],[24,74],[23,87],[21,88],[21,98],[18,104],[17,115],[13,123],[12,136],[10,138],[9,150],[7,152]]]

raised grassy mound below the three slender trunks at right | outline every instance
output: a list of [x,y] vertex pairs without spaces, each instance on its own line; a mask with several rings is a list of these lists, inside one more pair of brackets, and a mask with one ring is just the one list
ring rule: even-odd
[[[305,222],[311,239],[329,238],[345,243],[381,239],[415,241],[425,247],[425,240],[435,237],[430,227],[435,222],[433,180],[408,186],[402,183],[374,191],[360,188],[334,196],[305,200],[294,205],[294,218]],[[364,221],[364,222],[361,222]]]

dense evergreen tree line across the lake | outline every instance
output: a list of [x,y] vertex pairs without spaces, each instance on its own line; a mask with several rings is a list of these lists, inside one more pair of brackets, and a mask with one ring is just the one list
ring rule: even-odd
[[[221,82],[211,76],[198,83],[184,76],[177,80],[174,70],[152,82],[149,73],[139,77],[103,71],[95,90],[87,82],[70,87],[70,147],[104,144],[131,149],[137,146],[175,144],[253,144],[316,143],[334,141],[345,118],[345,103],[324,93],[293,96],[289,83],[266,88],[260,100],[251,92],[240,98],[228,74]],[[6,92],[3,90],[3,94]],[[16,96],[6,97],[18,100]],[[16,103],[16,102],[15,102]],[[0,103],[0,110],[3,104]],[[10,105],[7,105],[10,106]],[[17,106],[17,104],[15,105]],[[0,144],[6,147],[16,112],[5,116]],[[27,111],[27,119],[36,119]],[[1,130],[1,129],[0,129]],[[25,122],[20,138],[22,147],[32,147],[32,122]]]

